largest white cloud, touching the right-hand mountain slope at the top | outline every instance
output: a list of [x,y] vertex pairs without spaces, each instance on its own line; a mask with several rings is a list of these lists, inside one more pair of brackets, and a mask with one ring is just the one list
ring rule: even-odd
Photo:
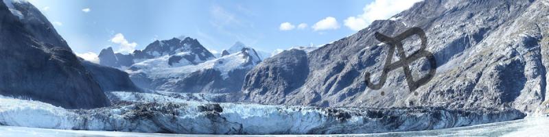
[[407,10],[419,1],[422,0],[375,0],[362,9],[364,13],[345,19],[344,25],[349,27],[349,29],[359,31],[368,27],[375,20],[387,19],[390,16]]

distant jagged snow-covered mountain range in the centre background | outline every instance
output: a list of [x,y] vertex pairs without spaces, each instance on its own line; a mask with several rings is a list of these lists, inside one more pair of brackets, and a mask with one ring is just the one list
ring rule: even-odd
[[244,76],[261,62],[261,57],[240,42],[229,51],[215,58],[198,40],[186,37],[156,40],[128,55],[114,53],[108,47],[99,58],[100,64],[128,72],[137,86],[147,90],[240,92]]

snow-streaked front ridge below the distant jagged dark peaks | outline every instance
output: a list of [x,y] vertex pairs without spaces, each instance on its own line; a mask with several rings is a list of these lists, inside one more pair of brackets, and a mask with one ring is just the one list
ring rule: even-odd
[[[178,54],[176,54],[178,55]],[[170,55],[144,60],[126,72],[133,82],[150,90],[170,92],[240,92],[244,76],[261,62],[253,49],[207,60],[199,64],[170,65]]]

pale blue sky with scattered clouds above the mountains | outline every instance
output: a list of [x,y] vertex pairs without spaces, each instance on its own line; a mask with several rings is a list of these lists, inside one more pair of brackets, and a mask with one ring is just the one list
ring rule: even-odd
[[324,45],[375,19],[409,8],[410,0],[28,0],[75,53],[113,47],[127,53],[154,40],[197,38],[208,49],[236,41],[274,51]]

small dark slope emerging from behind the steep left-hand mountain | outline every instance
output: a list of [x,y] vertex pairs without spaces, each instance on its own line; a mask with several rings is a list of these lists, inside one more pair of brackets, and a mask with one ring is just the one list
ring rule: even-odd
[[130,80],[128,73],[108,66],[101,66],[92,62],[81,60],[82,65],[88,70],[91,75],[97,80],[105,92],[110,91],[127,91],[127,92],[143,92],[137,88]]

